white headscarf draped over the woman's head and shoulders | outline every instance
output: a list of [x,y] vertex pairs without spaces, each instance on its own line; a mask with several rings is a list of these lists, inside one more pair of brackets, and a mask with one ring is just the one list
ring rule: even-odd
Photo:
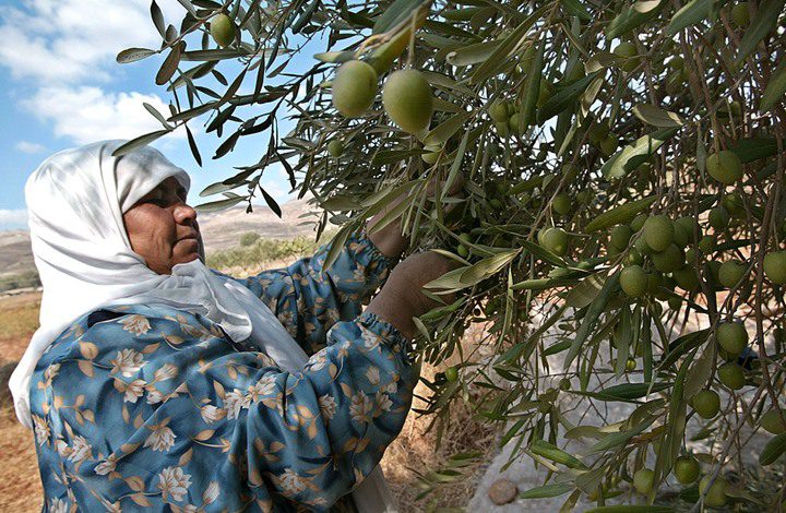
[[[110,305],[163,303],[200,313],[237,342],[250,337],[276,365],[302,369],[308,355],[248,288],[195,259],[152,271],[131,249],[122,215],[169,177],[188,191],[189,176],[157,150],[123,156],[126,141],[100,141],[50,156],[25,184],[31,243],[44,295],[35,332],[9,387],[16,417],[32,429],[29,380],[46,348],[81,315]],[[395,511],[379,468],[353,492],[361,512]]]

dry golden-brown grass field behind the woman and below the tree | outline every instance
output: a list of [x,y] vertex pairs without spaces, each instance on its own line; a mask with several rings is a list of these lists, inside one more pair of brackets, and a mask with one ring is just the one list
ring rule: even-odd
[[[277,249],[276,249],[277,251]],[[250,252],[249,252],[250,253]],[[240,253],[242,254],[242,252]],[[234,253],[227,258],[234,265],[217,267],[234,276],[245,276],[263,269],[284,266],[299,258],[301,254],[289,255],[286,259],[270,260],[263,264],[252,263]],[[221,255],[219,255],[221,256]],[[223,256],[222,256],[223,258]],[[258,261],[259,262],[259,261]],[[0,355],[0,511],[40,511],[41,487],[38,477],[33,433],[23,428],[13,413],[10,392],[7,387],[8,378],[21,358],[27,341],[38,326],[38,308],[40,293],[28,293],[19,296],[0,296],[0,344],[3,351]],[[478,325],[479,326],[479,325]],[[480,329],[467,332],[468,346],[481,334]],[[433,380],[434,373],[441,369],[424,366],[421,375]],[[478,391],[471,389],[472,396]],[[425,407],[425,403],[417,396],[428,396],[429,389],[419,383],[415,389],[414,408]],[[394,497],[401,504],[401,512],[425,511],[432,503],[442,508],[460,508],[467,503],[475,490],[475,482],[483,472],[487,457],[465,468],[467,479],[442,486],[433,494],[416,502],[420,492],[417,487],[417,475],[413,470],[425,473],[438,469],[445,460],[457,452],[478,451],[488,455],[495,446],[495,434],[489,427],[481,426],[473,420],[469,407],[460,405],[451,413],[451,423],[445,428],[442,442],[437,449],[436,432],[432,429],[426,432],[430,418],[417,418],[410,411],[401,436],[386,450],[382,458],[382,468],[388,478]]]

